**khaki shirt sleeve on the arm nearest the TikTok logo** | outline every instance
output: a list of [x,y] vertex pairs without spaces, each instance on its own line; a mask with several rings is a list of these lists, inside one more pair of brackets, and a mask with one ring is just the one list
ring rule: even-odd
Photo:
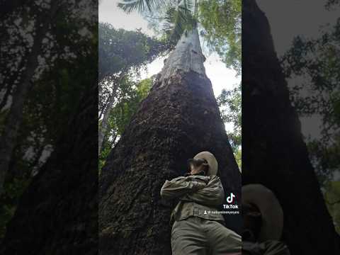
[[191,200],[202,205],[222,205],[225,199],[225,191],[220,181],[220,177],[211,176],[208,184],[195,193],[186,194],[181,200]]

